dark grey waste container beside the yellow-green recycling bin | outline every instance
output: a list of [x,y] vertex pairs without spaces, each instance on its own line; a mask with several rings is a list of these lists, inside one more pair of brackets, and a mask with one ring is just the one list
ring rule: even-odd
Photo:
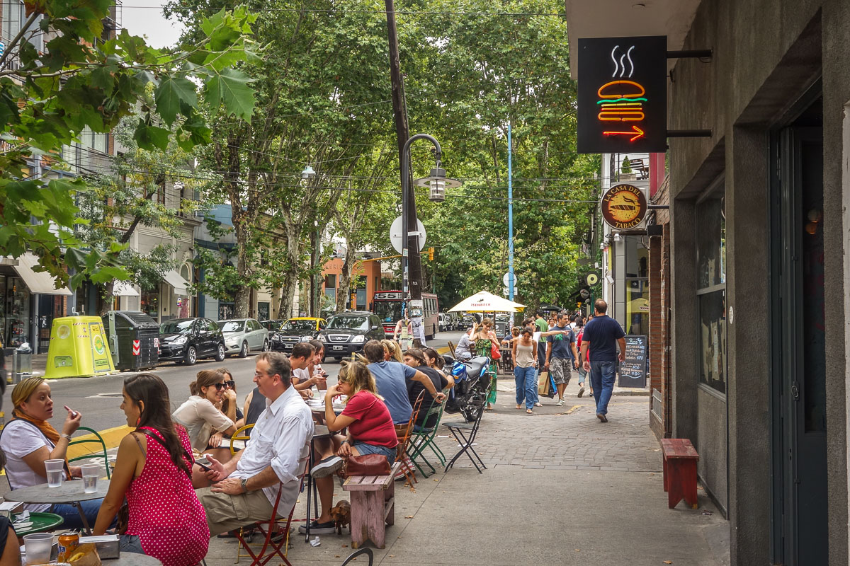
[[109,311],[103,316],[117,370],[139,370],[159,363],[159,323],[142,311]]

